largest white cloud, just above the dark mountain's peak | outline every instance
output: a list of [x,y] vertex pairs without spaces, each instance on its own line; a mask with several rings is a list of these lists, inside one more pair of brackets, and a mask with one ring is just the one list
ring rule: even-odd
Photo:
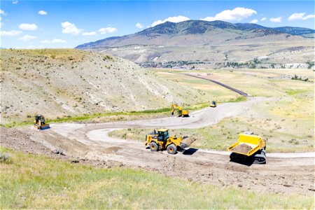
[[250,8],[237,7],[233,10],[223,10],[221,13],[216,14],[214,17],[207,17],[200,20],[214,21],[214,20],[223,20],[223,21],[241,21],[244,18],[251,17],[257,12]]

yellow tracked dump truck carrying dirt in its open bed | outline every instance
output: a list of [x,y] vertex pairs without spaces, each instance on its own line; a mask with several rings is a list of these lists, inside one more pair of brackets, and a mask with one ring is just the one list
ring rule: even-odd
[[266,140],[253,132],[239,134],[239,140],[229,146],[228,151],[232,152],[230,160],[233,162],[266,163]]

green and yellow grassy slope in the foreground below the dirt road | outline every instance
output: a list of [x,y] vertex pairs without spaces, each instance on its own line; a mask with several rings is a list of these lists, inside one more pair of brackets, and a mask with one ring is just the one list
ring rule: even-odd
[[99,169],[3,150],[1,209],[313,209],[314,197],[253,193],[134,169]]

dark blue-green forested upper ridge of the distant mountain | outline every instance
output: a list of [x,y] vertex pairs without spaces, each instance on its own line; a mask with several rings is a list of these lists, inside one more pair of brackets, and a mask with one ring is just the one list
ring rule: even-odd
[[[121,40],[125,40],[127,38],[133,38],[135,36],[147,36],[147,37],[158,37],[163,35],[169,36],[181,36],[181,35],[190,35],[190,34],[205,34],[209,31],[214,30],[225,30],[225,31],[251,31],[255,32],[256,30],[262,30],[266,35],[270,34],[289,34],[293,36],[303,36],[305,34],[314,34],[314,29],[307,29],[302,27],[264,27],[262,25],[257,25],[253,23],[230,23],[224,22],[221,20],[214,21],[204,21],[204,20],[186,20],[183,22],[165,22],[160,25],[156,25],[155,27],[150,27],[148,29],[144,29],[134,34],[128,34],[125,36],[112,36],[109,38],[100,39],[98,41],[92,41],[90,43],[83,43],[81,45],[76,46],[77,49],[85,49],[94,47],[100,43],[102,43],[102,47],[111,47],[111,46],[123,46],[117,45]],[[260,31],[261,32],[261,31]],[[306,36],[309,37],[309,36]],[[141,43],[134,43],[141,44]]]

